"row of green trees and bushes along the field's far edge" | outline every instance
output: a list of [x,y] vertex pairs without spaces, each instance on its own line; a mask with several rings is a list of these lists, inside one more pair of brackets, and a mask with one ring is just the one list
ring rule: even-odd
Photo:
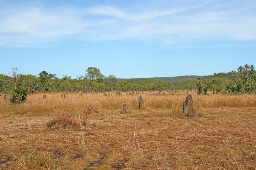
[[89,67],[85,75],[64,75],[42,71],[37,75],[22,75],[12,68],[10,75],[0,74],[0,92],[9,94],[11,103],[26,100],[36,92],[90,92],[90,91],[150,91],[150,90],[197,90],[198,94],[256,94],[256,71],[253,65],[240,66],[236,71],[214,73],[198,77],[197,80],[168,82],[154,79],[126,79],[117,83],[114,75],[104,76],[100,69]]

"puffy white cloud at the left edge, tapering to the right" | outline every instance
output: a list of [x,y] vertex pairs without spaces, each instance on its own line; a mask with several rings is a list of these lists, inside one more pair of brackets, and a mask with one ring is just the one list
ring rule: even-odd
[[79,14],[48,12],[38,8],[13,12],[0,18],[0,45],[23,46],[37,42],[56,41],[60,36],[79,35],[87,27],[111,24],[108,20],[86,21]]

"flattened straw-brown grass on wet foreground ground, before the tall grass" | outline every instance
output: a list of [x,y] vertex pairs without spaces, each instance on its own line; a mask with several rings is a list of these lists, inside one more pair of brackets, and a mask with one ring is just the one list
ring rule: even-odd
[[201,109],[3,114],[0,169],[256,169],[256,108]]

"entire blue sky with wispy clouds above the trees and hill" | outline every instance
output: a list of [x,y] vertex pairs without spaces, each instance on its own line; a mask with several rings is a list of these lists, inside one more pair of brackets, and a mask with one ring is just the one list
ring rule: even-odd
[[0,74],[117,78],[256,66],[255,0],[0,0]]

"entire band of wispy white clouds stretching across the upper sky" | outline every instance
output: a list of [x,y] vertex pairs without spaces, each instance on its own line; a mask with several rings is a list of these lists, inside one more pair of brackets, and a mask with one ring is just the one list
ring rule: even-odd
[[167,10],[151,7],[148,12],[98,5],[50,10],[43,7],[1,9],[0,46],[37,46],[77,39],[156,40],[183,45],[207,40],[255,40],[253,2],[248,1],[244,6],[222,5],[221,1],[208,1]]

